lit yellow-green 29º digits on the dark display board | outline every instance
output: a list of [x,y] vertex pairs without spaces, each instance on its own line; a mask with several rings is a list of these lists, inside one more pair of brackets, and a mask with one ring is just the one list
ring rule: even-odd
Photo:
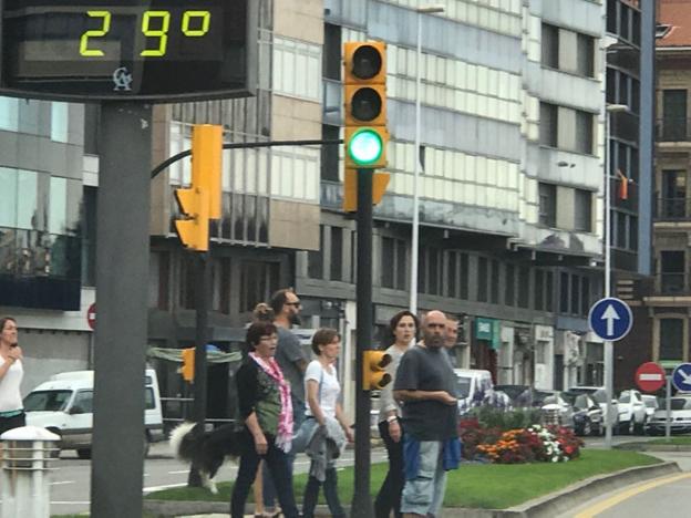
[[[96,45],[97,39],[104,38],[111,30],[112,14],[110,11],[86,11],[86,14],[100,20],[101,27],[84,31],[80,38],[80,55],[87,58],[105,56],[105,52]],[[209,11],[185,11],[179,30],[186,38],[200,38],[209,31],[210,24],[212,13]],[[169,29],[169,11],[144,11],[141,30],[147,39],[147,44],[140,55],[143,58],[164,56],[167,51]]]

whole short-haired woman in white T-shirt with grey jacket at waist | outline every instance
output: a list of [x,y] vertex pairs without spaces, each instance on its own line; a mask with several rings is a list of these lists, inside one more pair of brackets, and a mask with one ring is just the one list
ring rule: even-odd
[[311,458],[302,517],[314,516],[319,489],[323,485],[331,516],[344,518],[346,511],[338,496],[336,459],[346,441],[353,442],[353,434],[339,403],[341,384],[337,377],[336,361],[341,352],[341,336],[338,331],[328,328],[318,330],[312,336],[312,351],[317,360],[310,362],[305,372],[306,419],[296,437],[296,443],[301,443],[296,445],[298,450],[305,445]]

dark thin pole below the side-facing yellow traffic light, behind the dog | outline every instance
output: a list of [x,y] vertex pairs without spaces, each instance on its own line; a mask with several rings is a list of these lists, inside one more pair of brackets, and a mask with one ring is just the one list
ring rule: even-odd
[[[207,369],[206,369],[206,342],[208,328],[208,293],[210,269],[208,268],[208,252],[193,252],[197,261],[197,279],[199,282],[195,288],[196,299],[196,331],[195,331],[195,379],[194,379],[194,421],[197,423],[197,434],[203,434],[206,422],[207,401]],[[189,467],[187,477],[188,487],[202,487],[202,477],[197,466]]]

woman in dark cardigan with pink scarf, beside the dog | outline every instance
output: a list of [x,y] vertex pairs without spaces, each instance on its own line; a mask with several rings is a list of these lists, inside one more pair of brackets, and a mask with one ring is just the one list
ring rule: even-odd
[[245,423],[243,455],[230,516],[245,515],[245,501],[261,459],[271,473],[278,501],[286,518],[297,518],[287,452],[292,442],[290,385],[274,360],[278,335],[270,322],[256,322],[247,330],[249,354],[236,374],[240,418]]

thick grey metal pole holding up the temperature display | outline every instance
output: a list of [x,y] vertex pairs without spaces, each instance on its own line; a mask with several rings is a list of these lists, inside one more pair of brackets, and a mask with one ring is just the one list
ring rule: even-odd
[[142,516],[152,110],[103,103],[91,516]]

